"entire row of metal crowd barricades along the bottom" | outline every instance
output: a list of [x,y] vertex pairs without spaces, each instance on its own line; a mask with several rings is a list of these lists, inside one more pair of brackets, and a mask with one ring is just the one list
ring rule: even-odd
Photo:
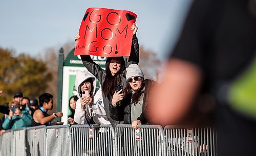
[[36,126],[0,136],[5,155],[175,155],[216,156],[217,134],[211,127],[110,124]]

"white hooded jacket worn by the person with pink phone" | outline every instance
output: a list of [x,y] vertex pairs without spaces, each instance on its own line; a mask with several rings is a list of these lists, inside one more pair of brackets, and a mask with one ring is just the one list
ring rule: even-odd
[[[106,112],[104,109],[104,104],[103,104],[103,100],[102,97],[100,97],[99,99],[94,99],[92,108],[89,107],[89,105],[86,105],[86,109],[82,110],[81,109],[81,95],[80,95],[80,84],[82,82],[84,82],[85,80],[92,78],[93,80],[93,96],[96,94],[95,90],[96,90],[96,79],[95,77],[87,72],[87,71],[77,71],[76,74],[76,90],[78,92],[77,97],[78,100],[76,101],[76,110],[75,110],[75,116],[74,116],[74,120],[76,123],[78,124],[86,124],[87,120],[84,118],[85,114],[87,113],[87,118],[90,121],[91,120],[91,115],[93,116],[93,121],[96,124],[110,124],[108,118],[106,118]],[[98,92],[101,92],[101,89],[98,90]],[[100,94],[102,96],[102,94]],[[91,109],[92,114],[91,114]],[[86,111],[86,112],[85,112]]]

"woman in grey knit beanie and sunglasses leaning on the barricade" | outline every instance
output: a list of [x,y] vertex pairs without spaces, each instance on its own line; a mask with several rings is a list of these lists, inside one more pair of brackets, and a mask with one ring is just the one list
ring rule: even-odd
[[124,89],[124,97],[119,98],[115,92],[110,105],[110,115],[114,120],[123,118],[124,124],[132,124],[137,128],[138,124],[146,124],[144,117],[148,102],[148,94],[156,83],[154,80],[144,79],[144,74],[137,64],[131,64],[126,68],[126,80],[129,85]]

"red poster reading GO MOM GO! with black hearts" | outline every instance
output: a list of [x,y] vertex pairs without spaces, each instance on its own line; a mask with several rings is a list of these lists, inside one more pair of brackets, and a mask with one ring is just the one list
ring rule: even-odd
[[74,55],[130,56],[137,15],[131,11],[89,8],[83,16]]

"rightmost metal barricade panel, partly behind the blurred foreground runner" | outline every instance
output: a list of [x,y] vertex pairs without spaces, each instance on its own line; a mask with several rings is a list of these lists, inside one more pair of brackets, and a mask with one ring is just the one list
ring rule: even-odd
[[166,155],[215,156],[216,132],[211,127],[165,126]]

